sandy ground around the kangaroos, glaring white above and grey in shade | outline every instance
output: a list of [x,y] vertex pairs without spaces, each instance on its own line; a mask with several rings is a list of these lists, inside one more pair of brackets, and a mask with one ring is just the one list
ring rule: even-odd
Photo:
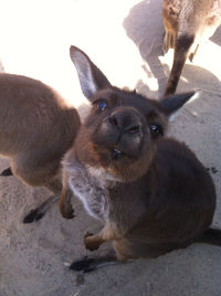
[[[122,3],[124,2],[124,3]],[[1,1],[0,68],[39,78],[80,106],[70,44],[82,47],[117,86],[159,97],[172,52],[162,55],[161,0]],[[221,29],[187,63],[178,92],[201,96],[177,115],[170,135],[186,141],[210,168],[218,192],[213,225],[221,228]],[[9,161],[0,160],[0,170]],[[221,249],[193,244],[156,260],[138,260],[91,274],[69,271],[86,254],[83,236],[99,225],[73,201],[64,220],[54,204],[34,224],[22,224],[49,192],[14,177],[0,178],[0,296],[220,296]],[[102,254],[109,245],[104,245]]]

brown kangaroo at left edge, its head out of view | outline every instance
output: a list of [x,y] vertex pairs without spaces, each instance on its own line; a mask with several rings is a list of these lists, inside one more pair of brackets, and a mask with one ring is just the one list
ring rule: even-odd
[[14,175],[53,192],[23,220],[38,221],[61,198],[61,159],[73,144],[80,117],[50,86],[8,73],[0,74],[0,155],[10,159],[1,176]]

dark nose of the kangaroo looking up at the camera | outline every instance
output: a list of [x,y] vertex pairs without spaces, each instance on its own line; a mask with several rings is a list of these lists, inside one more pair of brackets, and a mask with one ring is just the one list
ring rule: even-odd
[[108,121],[122,133],[137,134],[141,129],[138,118],[130,114],[113,114],[108,117]]

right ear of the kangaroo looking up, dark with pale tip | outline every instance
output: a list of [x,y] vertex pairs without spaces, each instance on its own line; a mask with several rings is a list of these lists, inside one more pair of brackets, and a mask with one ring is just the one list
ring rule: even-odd
[[159,102],[159,105],[164,113],[168,116],[168,119],[172,120],[178,109],[181,108],[190,98],[197,98],[199,94],[200,91],[192,91],[189,93],[171,95],[162,98]]

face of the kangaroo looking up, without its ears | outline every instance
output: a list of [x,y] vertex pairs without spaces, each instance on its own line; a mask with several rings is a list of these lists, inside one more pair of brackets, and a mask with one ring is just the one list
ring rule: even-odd
[[76,155],[116,179],[133,181],[147,171],[165,128],[166,116],[154,103],[117,88],[101,91],[78,133]]

